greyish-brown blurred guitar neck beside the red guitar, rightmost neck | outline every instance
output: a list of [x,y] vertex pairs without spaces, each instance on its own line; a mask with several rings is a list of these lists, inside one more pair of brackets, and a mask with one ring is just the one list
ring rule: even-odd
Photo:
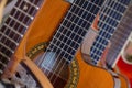
[[116,65],[118,56],[123,48],[127,40],[129,38],[131,32],[132,32],[132,6],[129,7],[124,18],[122,19],[119,28],[113,33],[113,36],[111,37],[111,47],[107,55],[107,63],[109,66],[113,67]]

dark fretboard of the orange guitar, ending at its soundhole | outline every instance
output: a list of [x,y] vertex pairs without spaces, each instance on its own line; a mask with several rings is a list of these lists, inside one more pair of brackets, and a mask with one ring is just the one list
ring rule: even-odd
[[75,0],[47,51],[55,52],[69,63],[103,2],[105,0]]

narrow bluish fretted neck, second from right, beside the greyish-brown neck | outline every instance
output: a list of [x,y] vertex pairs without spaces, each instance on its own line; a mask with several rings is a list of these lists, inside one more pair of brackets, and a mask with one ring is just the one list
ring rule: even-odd
[[91,61],[95,65],[98,64],[129,3],[130,0],[107,0],[105,7],[101,9],[100,31],[90,51]]

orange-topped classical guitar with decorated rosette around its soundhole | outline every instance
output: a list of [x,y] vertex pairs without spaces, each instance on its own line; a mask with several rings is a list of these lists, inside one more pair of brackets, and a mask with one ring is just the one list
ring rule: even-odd
[[[46,0],[40,20],[29,35],[28,56],[34,59],[55,88],[113,88],[111,74],[86,64],[78,50],[103,1],[69,2],[72,4],[62,0]],[[116,3],[127,7],[129,1],[116,0]]]

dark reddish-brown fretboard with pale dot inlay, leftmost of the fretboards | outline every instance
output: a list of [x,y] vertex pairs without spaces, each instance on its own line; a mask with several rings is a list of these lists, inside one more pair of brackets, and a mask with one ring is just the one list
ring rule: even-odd
[[0,28],[0,74],[7,67],[43,0],[18,0]]

